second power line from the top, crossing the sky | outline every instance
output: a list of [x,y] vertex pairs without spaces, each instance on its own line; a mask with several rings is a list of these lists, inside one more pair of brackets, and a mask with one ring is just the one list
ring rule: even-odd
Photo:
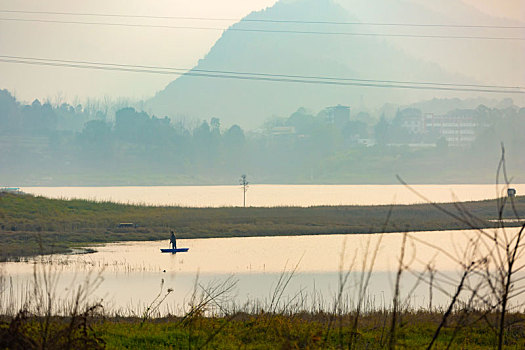
[[368,36],[368,37],[393,37],[393,38],[423,38],[423,39],[472,39],[472,40],[498,40],[498,41],[525,41],[522,37],[493,37],[493,36],[463,36],[463,35],[427,35],[427,34],[390,34],[390,33],[358,33],[358,32],[325,32],[325,31],[302,31],[302,30],[280,30],[280,29],[250,29],[250,28],[216,28],[216,27],[194,27],[194,26],[172,26],[157,24],[136,23],[110,23],[110,22],[87,22],[87,21],[60,21],[45,19],[25,18],[0,18],[0,21],[13,22],[35,22],[35,23],[59,23],[59,24],[82,24],[103,25],[114,27],[138,27],[138,28],[165,28],[165,29],[190,29],[190,30],[215,30],[236,31],[252,33],[287,33],[287,34],[315,34],[315,35],[342,35],[342,36]]

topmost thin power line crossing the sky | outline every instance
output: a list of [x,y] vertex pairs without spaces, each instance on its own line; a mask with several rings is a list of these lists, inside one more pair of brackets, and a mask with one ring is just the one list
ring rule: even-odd
[[333,24],[333,25],[366,25],[366,26],[396,26],[396,27],[435,27],[435,28],[486,28],[486,29],[525,29],[525,26],[502,25],[468,25],[468,24],[439,24],[439,23],[380,23],[380,22],[344,22],[344,21],[314,21],[295,19],[257,19],[257,18],[217,18],[217,17],[186,17],[186,16],[152,16],[107,13],[79,13],[79,12],[54,12],[54,11],[24,11],[0,10],[0,13],[43,14],[61,16],[89,16],[89,17],[116,17],[116,18],[145,18],[145,19],[171,19],[171,20],[198,20],[198,21],[243,21],[260,23],[295,23],[295,24]]

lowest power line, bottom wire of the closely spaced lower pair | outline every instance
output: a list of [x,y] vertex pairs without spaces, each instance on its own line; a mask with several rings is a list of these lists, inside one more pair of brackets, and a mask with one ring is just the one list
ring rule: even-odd
[[6,63],[18,63],[18,64],[29,64],[39,66],[54,66],[54,67],[69,67],[69,68],[83,68],[83,69],[96,69],[105,71],[124,71],[124,72],[135,72],[135,73],[153,73],[153,74],[168,74],[168,75],[184,75],[184,76],[196,76],[196,77],[208,77],[208,78],[222,78],[222,79],[236,79],[236,80],[254,80],[254,81],[267,81],[267,82],[286,82],[286,83],[301,83],[301,84],[317,84],[317,85],[334,85],[334,86],[360,86],[360,87],[378,87],[378,88],[397,88],[397,89],[416,89],[416,90],[442,90],[442,91],[463,91],[463,92],[486,92],[486,93],[506,93],[506,94],[523,94],[521,90],[501,90],[501,89],[476,89],[467,87],[443,87],[443,86],[416,86],[416,85],[400,85],[400,84],[387,84],[387,83],[365,83],[365,82],[344,82],[344,81],[331,81],[331,80],[309,80],[309,79],[292,79],[292,78],[277,78],[277,77],[266,77],[266,76],[241,76],[231,74],[211,74],[211,73],[200,73],[200,72],[174,72],[174,71],[163,71],[154,69],[139,69],[139,68],[127,68],[127,67],[112,67],[102,65],[88,65],[88,64],[75,64],[65,62],[45,62],[45,61],[29,61],[20,59],[8,59],[0,58],[0,62]]

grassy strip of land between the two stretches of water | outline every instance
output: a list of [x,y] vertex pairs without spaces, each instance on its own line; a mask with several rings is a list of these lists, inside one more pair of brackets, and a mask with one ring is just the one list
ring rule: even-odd
[[[520,216],[525,216],[525,197],[516,197],[514,203]],[[440,206],[465,217],[475,227],[498,225],[490,221],[498,219],[497,200]],[[506,206],[502,217],[515,217],[510,206]],[[119,228],[122,222],[138,226]],[[468,228],[468,223],[439,211],[432,204],[185,208],[7,193],[0,196],[0,260],[64,253],[73,247],[99,243],[167,239],[169,230],[176,231],[179,238],[218,238]]]

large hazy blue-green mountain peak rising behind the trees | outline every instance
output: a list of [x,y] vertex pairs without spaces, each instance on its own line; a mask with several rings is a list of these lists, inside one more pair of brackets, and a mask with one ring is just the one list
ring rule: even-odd
[[[443,14],[431,8],[416,2],[399,2],[409,9],[409,17],[419,14],[422,18],[442,20]],[[220,70],[377,80],[462,83],[474,81],[460,70],[447,71],[444,65],[440,65],[439,60],[432,61],[425,55],[411,54],[406,47],[403,48],[394,40],[387,40],[381,36],[275,32],[285,30],[374,33],[393,32],[392,28],[250,21],[295,19],[359,22],[370,15],[367,11],[373,11],[374,6],[380,8],[381,4],[389,3],[398,1],[371,0],[368,7],[364,0],[345,2],[345,7],[334,0],[280,1],[270,8],[251,13],[226,30],[206,57],[190,72]],[[388,17],[388,12],[400,15],[402,6],[390,6],[381,11],[382,16]],[[273,32],[235,29],[263,29]],[[408,40],[422,41],[415,38]],[[454,55],[454,52],[449,52],[449,55]],[[223,125],[236,123],[245,128],[254,128],[273,116],[287,116],[300,106],[320,110],[326,106],[342,104],[362,109],[377,107],[385,102],[413,103],[433,98],[435,95],[436,91],[419,89],[313,85],[183,75],[158,92],[145,105],[147,111],[157,115],[203,119],[217,117]],[[439,92],[441,98],[458,95],[464,96],[461,93]]]

